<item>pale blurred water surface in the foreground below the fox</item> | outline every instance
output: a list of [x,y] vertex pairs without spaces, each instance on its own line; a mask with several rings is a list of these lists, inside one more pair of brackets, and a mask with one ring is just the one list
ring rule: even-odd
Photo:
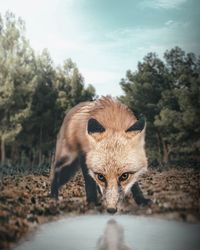
[[200,225],[129,215],[67,217],[15,250],[199,250]]

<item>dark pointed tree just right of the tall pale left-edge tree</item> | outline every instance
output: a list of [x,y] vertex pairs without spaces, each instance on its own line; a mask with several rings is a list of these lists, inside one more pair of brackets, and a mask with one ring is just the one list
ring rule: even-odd
[[[22,123],[18,137],[34,163],[41,164],[53,146],[57,125],[57,90],[54,87],[55,70],[47,50],[36,60],[36,88],[30,113]],[[33,146],[34,145],[34,146]]]

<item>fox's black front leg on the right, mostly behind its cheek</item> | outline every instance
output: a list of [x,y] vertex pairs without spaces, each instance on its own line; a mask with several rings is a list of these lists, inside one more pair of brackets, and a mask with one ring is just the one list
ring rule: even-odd
[[148,206],[152,203],[150,199],[146,199],[140,189],[138,182],[135,182],[131,188],[131,192],[135,202],[140,206]]

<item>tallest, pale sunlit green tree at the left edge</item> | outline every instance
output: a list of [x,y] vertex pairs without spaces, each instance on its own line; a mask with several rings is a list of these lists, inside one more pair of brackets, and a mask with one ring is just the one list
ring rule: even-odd
[[7,12],[0,16],[0,140],[1,163],[5,145],[21,130],[34,90],[34,53],[24,37],[24,23]]

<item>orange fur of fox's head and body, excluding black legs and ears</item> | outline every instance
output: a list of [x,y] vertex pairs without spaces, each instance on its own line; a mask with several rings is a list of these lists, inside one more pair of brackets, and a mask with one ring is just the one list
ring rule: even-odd
[[[90,118],[96,119],[105,131],[88,134]],[[52,173],[54,174],[55,163],[59,159],[66,157],[67,161],[63,163],[66,166],[80,151],[83,152],[90,175],[102,193],[105,193],[107,207],[116,206],[119,200],[119,177],[125,172],[132,173],[121,183],[121,189],[126,193],[138,176],[147,169],[145,129],[126,132],[136,121],[125,105],[111,97],[102,97],[75,106],[66,115],[61,126]],[[107,184],[99,181],[96,173],[103,174]]]

